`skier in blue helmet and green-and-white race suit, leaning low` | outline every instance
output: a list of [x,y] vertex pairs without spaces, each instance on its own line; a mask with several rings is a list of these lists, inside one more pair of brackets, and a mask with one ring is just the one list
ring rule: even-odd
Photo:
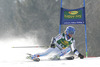
[[64,33],[58,34],[56,37],[51,40],[51,47],[47,49],[47,51],[43,53],[38,53],[34,55],[30,55],[30,59],[32,60],[40,60],[38,57],[46,56],[52,51],[57,51],[56,55],[52,57],[52,60],[59,60],[61,56],[68,55],[70,52],[73,52],[76,56],[83,59],[84,56],[78,52],[75,48],[75,40],[73,39],[73,35],[75,34],[75,28],[72,26],[68,26]]

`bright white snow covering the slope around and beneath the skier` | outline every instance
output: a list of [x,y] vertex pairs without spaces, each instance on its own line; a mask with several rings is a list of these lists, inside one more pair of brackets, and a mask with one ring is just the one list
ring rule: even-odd
[[[50,61],[45,57],[40,62],[26,59],[26,53],[39,53],[45,51],[41,48],[12,48],[14,46],[32,45],[30,38],[0,40],[0,67],[100,67],[100,57]],[[37,44],[37,43],[34,43]]]

